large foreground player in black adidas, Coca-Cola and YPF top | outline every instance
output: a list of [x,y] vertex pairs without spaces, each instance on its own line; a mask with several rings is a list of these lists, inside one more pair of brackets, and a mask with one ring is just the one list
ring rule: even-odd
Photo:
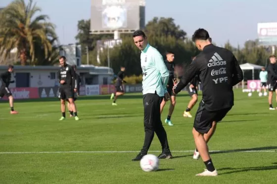
[[196,30],[192,40],[202,52],[191,62],[173,90],[175,94],[179,93],[195,75],[199,76],[203,85],[202,100],[195,115],[192,134],[207,170],[196,176],[217,176],[207,142],[215,131],[216,123],[234,105],[232,87],[243,79],[243,74],[232,52],[213,45],[206,30]]

